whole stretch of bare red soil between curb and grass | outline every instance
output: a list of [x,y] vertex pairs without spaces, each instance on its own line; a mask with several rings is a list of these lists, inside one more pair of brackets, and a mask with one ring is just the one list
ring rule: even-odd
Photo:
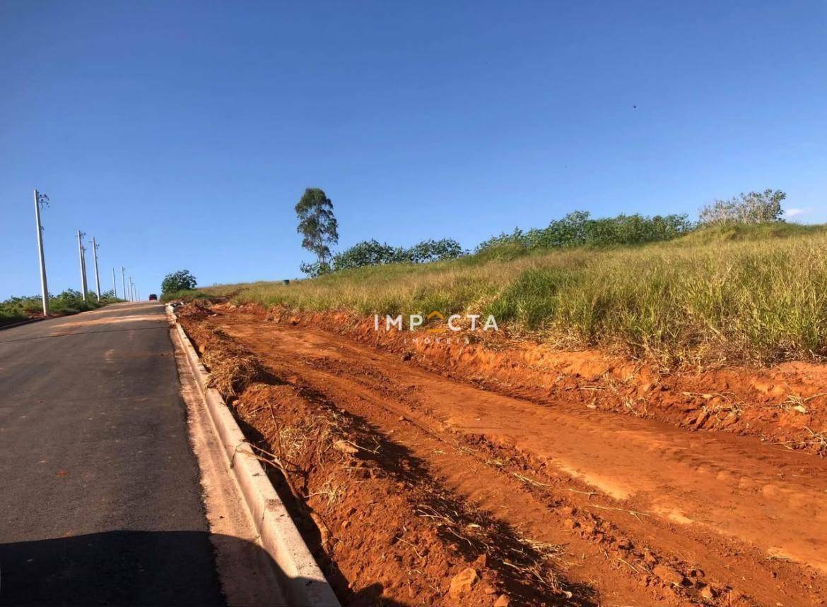
[[234,407],[346,605],[824,604],[817,366],[662,375],[349,315],[182,312],[203,352],[261,366]]

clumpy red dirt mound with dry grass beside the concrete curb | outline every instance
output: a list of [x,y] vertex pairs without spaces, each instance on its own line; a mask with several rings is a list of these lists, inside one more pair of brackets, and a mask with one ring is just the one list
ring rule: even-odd
[[255,356],[198,324],[203,315],[181,316],[211,371],[222,369],[216,387],[256,437],[262,461],[280,472],[282,492],[347,605],[380,597],[400,605],[544,605],[571,597],[557,576],[561,547],[525,540],[457,500],[403,446],[312,388],[271,374],[251,378],[237,361]]

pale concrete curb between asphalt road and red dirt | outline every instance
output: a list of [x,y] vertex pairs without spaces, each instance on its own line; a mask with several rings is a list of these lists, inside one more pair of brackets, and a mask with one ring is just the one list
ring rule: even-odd
[[289,598],[290,605],[340,607],[333,589],[313,559],[299,529],[296,529],[284,502],[267,478],[261,462],[246,442],[227,403],[218,391],[208,386],[207,370],[184,333],[184,328],[179,325],[174,308],[167,304],[166,312],[175,325],[179,343],[207,405],[229,469],[238,482],[246,507],[260,534],[261,545],[284,573],[287,581],[284,593]]

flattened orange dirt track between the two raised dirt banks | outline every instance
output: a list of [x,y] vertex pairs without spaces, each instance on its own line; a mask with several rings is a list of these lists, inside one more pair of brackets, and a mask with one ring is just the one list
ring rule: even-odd
[[[815,458],[651,420],[555,411],[341,336],[286,324],[262,331],[255,315],[211,322],[281,377],[404,443],[466,500],[530,537],[567,543],[578,557],[569,574],[580,569],[604,598],[640,600],[641,588],[670,578],[697,600],[743,593],[797,605],[825,590],[819,573],[796,564],[827,563],[827,482]],[[696,591],[706,584],[705,595]]]

